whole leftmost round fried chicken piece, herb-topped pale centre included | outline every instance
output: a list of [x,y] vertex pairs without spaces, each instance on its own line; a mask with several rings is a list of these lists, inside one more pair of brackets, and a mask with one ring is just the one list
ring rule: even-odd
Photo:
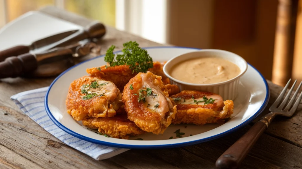
[[69,86],[67,112],[78,121],[89,117],[113,117],[122,105],[121,98],[114,83],[83,76]]

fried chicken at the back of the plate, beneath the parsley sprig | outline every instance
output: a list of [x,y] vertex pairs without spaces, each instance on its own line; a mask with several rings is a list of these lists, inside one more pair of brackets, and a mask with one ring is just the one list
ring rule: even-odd
[[[164,84],[170,83],[168,77],[165,76],[162,70],[162,64],[160,62],[154,62],[153,68],[149,69],[156,75],[161,76],[164,79]],[[113,82],[120,91],[124,90],[124,86],[133,78],[136,73],[132,73],[132,70],[127,65],[119,65],[114,67],[106,67],[103,65],[101,67],[93,67],[86,69],[86,72],[93,77],[98,77],[110,82]]]

